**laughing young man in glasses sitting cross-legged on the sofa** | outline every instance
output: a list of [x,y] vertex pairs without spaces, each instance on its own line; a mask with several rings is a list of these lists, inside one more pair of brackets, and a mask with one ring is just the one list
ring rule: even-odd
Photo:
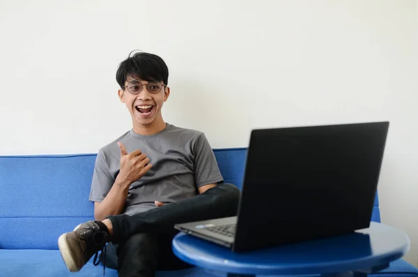
[[118,95],[132,130],[98,151],[89,197],[95,220],[59,237],[70,271],[93,255],[97,265],[100,250],[119,276],[181,269],[187,265],[171,251],[174,224],[235,216],[240,191],[224,183],[205,135],[162,119],[168,77],[155,54],[138,52],[120,64]]

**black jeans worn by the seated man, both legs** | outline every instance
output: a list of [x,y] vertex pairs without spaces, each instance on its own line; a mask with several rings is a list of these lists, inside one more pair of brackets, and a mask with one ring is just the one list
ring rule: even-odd
[[[223,183],[195,197],[141,214],[109,216],[114,234],[112,243],[108,244],[106,263],[109,267],[116,266],[119,276],[123,277],[150,277],[157,270],[186,268],[187,264],[175,257],[171,250],[171,240],[178,233],[173,226],[235,216],[239,198],[240,190],[236,186]],[[115,252],[117,259],[114,254],[111,256]]]

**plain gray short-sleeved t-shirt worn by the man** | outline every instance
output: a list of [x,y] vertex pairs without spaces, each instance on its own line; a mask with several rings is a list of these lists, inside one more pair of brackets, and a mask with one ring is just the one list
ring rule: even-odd
[[139,135],[133,130],[98,151],[89,200],[101,202],[113,186],[120,170],[121,150],[141,150],[150,159],[151,169],[131,184],[124,214],[133,215],[155,208],[154,201],[177,202],[196,195],[197,188],[223,181],[215,155],[206,136],[196,130],[167,123],[155,135]]

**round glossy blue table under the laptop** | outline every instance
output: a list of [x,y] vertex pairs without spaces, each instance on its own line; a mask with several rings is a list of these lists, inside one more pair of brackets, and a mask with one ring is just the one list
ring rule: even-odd
[[173,252],[181,260],[223,276],[366,276],[385,269],[409,248],[404,232],[373,222],[351,234],[245,253],[184,233],[173,239]]

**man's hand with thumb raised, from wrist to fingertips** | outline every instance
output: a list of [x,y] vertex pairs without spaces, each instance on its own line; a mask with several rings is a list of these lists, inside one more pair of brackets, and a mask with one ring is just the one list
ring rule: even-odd
[[118,146],[121,149],[121,170],[118,177],[116,177],[116,181],[130,185],[134,181],[141,179],[152,165],[148,164],[150,159],[140,150],[135,150],[128,154],[121,142],[118,142]]

